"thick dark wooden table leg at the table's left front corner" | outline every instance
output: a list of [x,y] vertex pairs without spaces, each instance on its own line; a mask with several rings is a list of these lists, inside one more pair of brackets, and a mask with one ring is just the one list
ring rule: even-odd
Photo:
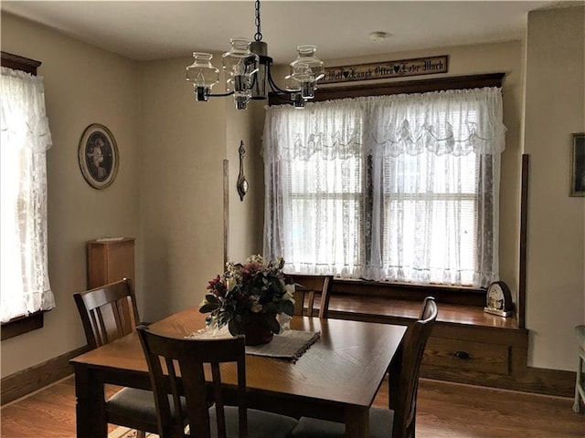
[[107,438],[103,383],[87,368],[75,367],[77,438]]

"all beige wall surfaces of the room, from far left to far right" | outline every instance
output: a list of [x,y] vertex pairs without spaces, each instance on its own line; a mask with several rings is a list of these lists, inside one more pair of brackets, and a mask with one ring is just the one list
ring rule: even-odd
[[[583,31],[582,14],[580,29],[574,28],[579,27],[579,15],[555,14],[531,16],[528,41],[526,138],[533,176],[527,323],[533,330],[531,364],[574,370],[569,331],[583,322],[585,313],[583,199],[567,196],[566,180],[569,133],[584,130],[579,100],[582,47],[580,58],[569,60],[579,48],[574,47],[579,38],[570,35],[582,36]],[[557,26],[561,18],[573,25],[558,32],[565,29]],[[572,47],[569,52],[567,45]],[[223,268],[224,159],[229,160],[229,258],[261,251],[262,102],[252,103],[253,110],[243,113],[233,110],[229,99],[197,103],[184,78],[189,57],[136,64],[12,16],[2,16],[2,49],[43,61],[39,74],[45,77],[54,140],[48,152],[49,275],[58,300],[45,328],[2,343],[2,376],[83,345],[71,294],[85,287],[86,240],[101,235],[138,238],[137,291],[144,319],[197,306],[207,280]],[[450,56],[449,76],[505,72],[508,131],[502,160],[500,260],[501,276],[516,293],[525,132],[523,44],[445,47],[327,64],[443,54]],[[549,72],[544,68],[549,60],[568,67]],[[554,87],[549,77],[556,78]],[[566,94],[562,102],[554,90]],[[118,178],[103,191],[84,182],[77,163],[81,132],[93,122],[112,130],[121,154]],[[235,189],[240,140],[246,145],[244,170],[250,182],[244,202]],[[537,174],[546,179],[537,179]]]

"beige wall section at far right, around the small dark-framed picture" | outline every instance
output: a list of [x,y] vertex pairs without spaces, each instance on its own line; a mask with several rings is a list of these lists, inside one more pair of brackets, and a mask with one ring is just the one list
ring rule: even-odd
[[528,16],[527,328],[530,363],[575,370],[585,323],[585,198],[569,197],[570,134],[585,132],[585,7]]

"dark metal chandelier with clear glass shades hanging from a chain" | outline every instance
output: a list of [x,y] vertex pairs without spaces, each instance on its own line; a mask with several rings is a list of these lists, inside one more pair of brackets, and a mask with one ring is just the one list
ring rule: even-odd
[[194,52],[195,61],[186,68],[186,80],[193,83],[195,99],[207,102],[209,98],[233,96],[237,110],[246,110],[250,99],[266,99],[267,89],[282,99],[293,102],[295,108],[303,108],[304,102],[314,98],[319,79],[324,78],[324,63],[314,56],[316,46],[296,47],[298,57],[291,63],[291,73],[280,89],[271,75],[272,58],[268,45],[262,41],[260,0],[255,2],[256,34],[254,41],[231,38],[231,48],[222,55],[222,69],[226,78],[226,92],[211,93],[219,82],[219,68],[211,63],[210,53]]

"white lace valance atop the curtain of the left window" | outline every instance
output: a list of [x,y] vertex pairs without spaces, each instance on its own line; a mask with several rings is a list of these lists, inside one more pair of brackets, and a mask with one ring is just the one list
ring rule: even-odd
[[12,68],[2,68],[0,126],[3,147],[47,151],[52,145],[45,111],[43,78]]

